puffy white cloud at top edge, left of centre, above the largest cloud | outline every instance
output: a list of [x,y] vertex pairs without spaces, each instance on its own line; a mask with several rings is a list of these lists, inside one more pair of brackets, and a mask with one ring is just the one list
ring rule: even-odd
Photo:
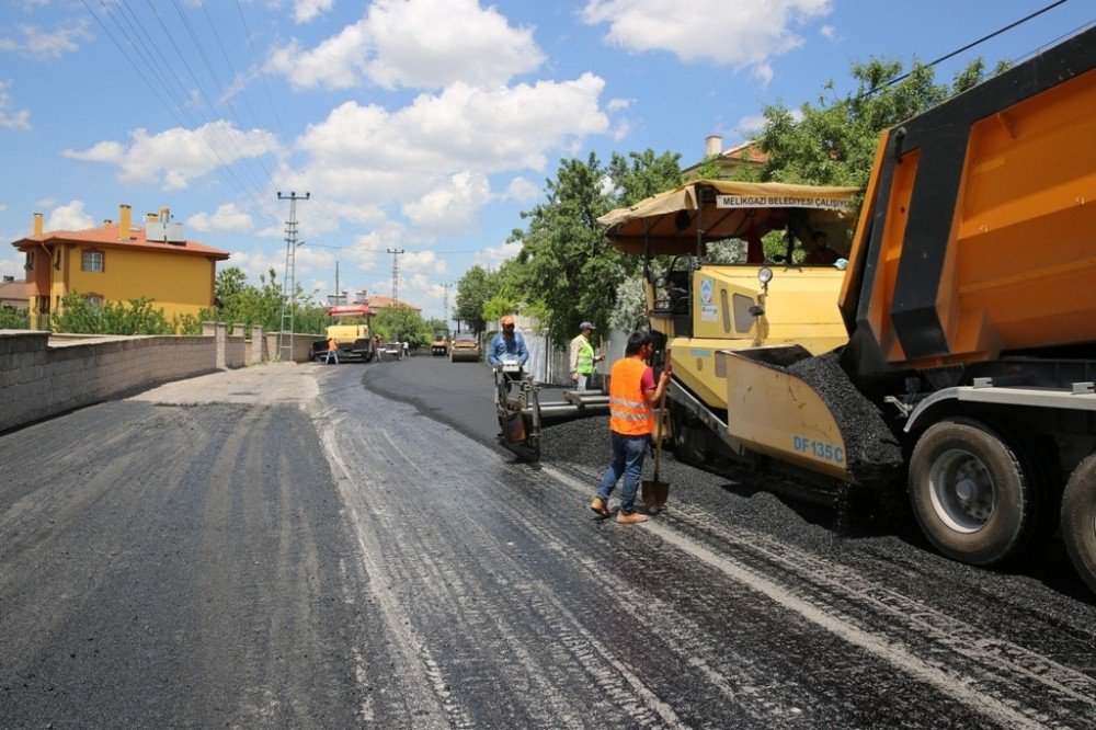
[[276,49],[267,68],[295,89],[347,89],[366,79],[386,89],[439,89],[504,84],[544,59],[530,30],[476,0],[377,0],[312,49],[296,39]]

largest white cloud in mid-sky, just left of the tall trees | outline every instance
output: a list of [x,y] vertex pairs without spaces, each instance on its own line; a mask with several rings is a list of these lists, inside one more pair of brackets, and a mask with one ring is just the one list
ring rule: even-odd
[[294,184],[322,190],[343,217],[357,209],[376,223],[395,206],[433,230],[467,230],[490,195],[483,175],[544,170],[548,150],[576,151],[605,132],[603,87],[585,75],[511,89],[455,84],[395,112],[346,102],[297,140],[310,160]]

